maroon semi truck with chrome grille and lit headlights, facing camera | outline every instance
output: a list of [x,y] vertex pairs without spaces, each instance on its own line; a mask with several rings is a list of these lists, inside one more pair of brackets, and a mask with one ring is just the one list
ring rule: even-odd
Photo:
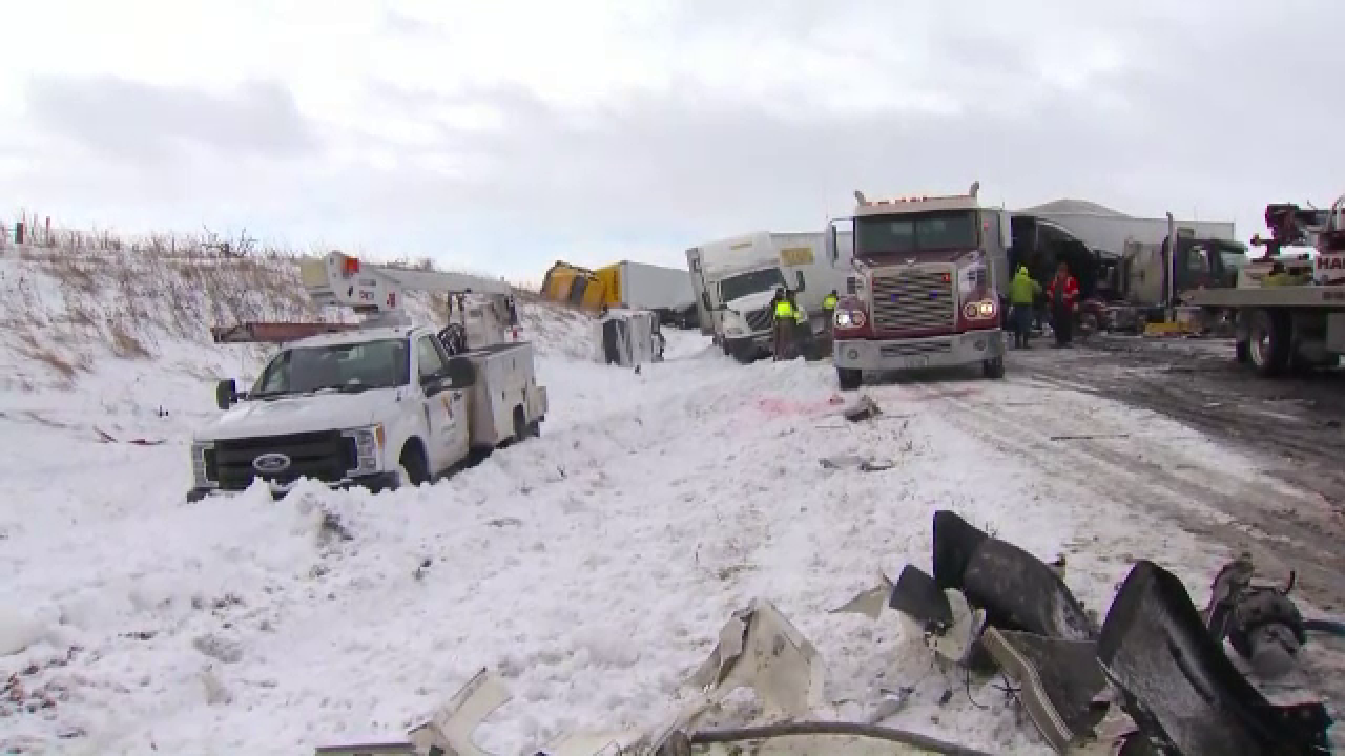
[[868,200],[833,221],[829,246],[849,235],[853,272],[834,315],[833,355],[842,390],[865,371],[893,373],[981,363],[1005,370],[1003,299],[1009,284],[1009,214],[968,194]]

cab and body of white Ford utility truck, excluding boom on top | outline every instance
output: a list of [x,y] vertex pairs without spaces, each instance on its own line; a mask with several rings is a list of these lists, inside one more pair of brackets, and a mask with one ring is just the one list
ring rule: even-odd
[[430,328],[370,328],[281,348],[250,391],[221,383],[223,410],[192,440],[188,500],[303,478],[373,491],[433,480],[537,434],[546,389],[533,350],[506,343],[449,355]]

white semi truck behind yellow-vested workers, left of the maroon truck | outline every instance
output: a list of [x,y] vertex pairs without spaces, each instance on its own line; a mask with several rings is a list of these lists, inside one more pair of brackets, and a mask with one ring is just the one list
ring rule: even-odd
[[826,326],[822,300],[845,281],[850,265],[829,258],[824,250],[820,233],[765,231],[689,249],[701,332],[738,362],[771,354],[769,305],[780,287],[795,292],[816,332]]

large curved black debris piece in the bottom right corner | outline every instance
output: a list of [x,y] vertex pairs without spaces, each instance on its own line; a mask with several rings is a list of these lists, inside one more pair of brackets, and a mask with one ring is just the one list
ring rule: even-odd
[[1272,706],[1209,635],[1181,581],[1153,562],[1137,562],[1116,593],[1098,659],[1157,749],[1185,756],[1330,752],[1325,706]]

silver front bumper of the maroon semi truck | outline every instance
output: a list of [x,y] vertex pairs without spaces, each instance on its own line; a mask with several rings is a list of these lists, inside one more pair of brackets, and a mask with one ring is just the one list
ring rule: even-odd
[[1005,339],[999,328],[924,339],[838,339],[831,348],[837,367],[874,373],[955,367],[1003,354]]

